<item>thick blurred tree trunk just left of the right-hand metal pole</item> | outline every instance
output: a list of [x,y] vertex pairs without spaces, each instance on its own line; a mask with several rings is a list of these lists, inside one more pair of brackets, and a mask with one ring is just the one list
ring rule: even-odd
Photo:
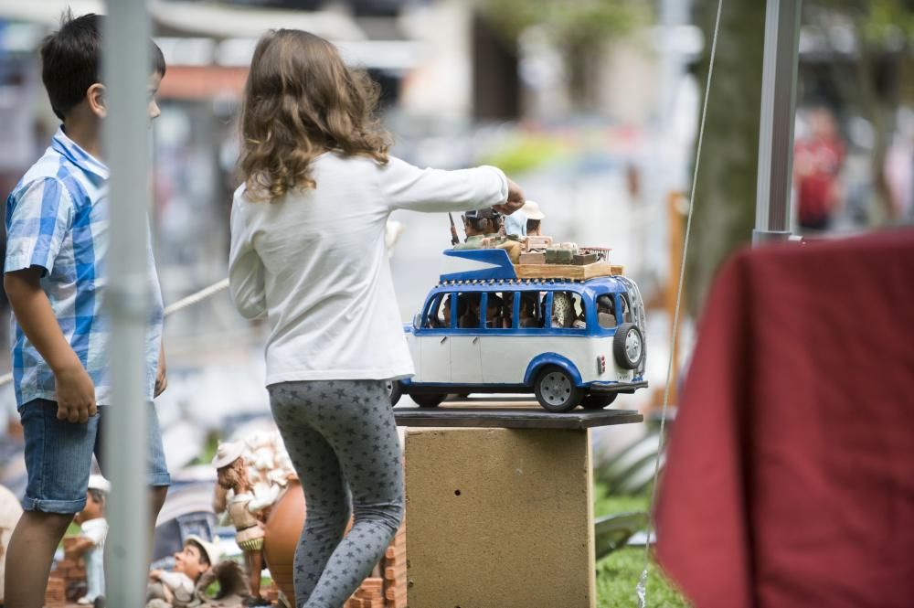
[[[704,91],[717,0],[696,0],[695,8],[706,40],[696,68]],[[700,314],[721,261],[752,239],[764,30],[764,2],[724,3],[685,268],[685,300],[693,315]]]

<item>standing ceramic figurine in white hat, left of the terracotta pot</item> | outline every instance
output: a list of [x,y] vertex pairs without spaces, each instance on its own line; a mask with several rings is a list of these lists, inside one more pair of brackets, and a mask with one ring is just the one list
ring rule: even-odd
[[267,605],[260,597],[260,571],[263,570],[263,522],[262,511],[276,500],[276,493],[256,496],[254,485],[248,475],[245,460],[246,446],[242,442],[219,443],[213,466],[216,467],[218,485],[232,495],[226,509],[235,527],[235,542],[244,551],[244,562],[248,571],[251,599],[249,605]]

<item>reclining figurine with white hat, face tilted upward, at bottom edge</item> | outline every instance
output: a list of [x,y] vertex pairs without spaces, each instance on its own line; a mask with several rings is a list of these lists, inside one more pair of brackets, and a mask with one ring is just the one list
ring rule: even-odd
[[218,549],[196,534],[184,541],[184,550],[175,553],[172,571],[154,570],[149,573],[147,608],[185,606],[194,599],[200,577],[218,562]]

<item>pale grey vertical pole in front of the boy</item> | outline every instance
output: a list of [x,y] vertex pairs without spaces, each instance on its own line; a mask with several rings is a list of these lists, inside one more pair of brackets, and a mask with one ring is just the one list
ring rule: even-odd
[[146,211],[148,176],[149,18],[143,0],[110,0],[103,74],[111,169],[107,286],[111,318],[112,404],[105,411],[105,473],[112,482],[108,519],[107,599],[140,608],[146,589],[149,505],[146,492],[145,327],[148,315]]

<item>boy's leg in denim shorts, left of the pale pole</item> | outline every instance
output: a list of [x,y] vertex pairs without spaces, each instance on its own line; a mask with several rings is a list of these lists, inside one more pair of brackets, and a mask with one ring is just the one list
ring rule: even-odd
[[5,605],[40,608],[54,551],[86,504],[98,416],[85,424],[58,421],[57,403],[34,400],[20,410],[28,485],[6,553]]

